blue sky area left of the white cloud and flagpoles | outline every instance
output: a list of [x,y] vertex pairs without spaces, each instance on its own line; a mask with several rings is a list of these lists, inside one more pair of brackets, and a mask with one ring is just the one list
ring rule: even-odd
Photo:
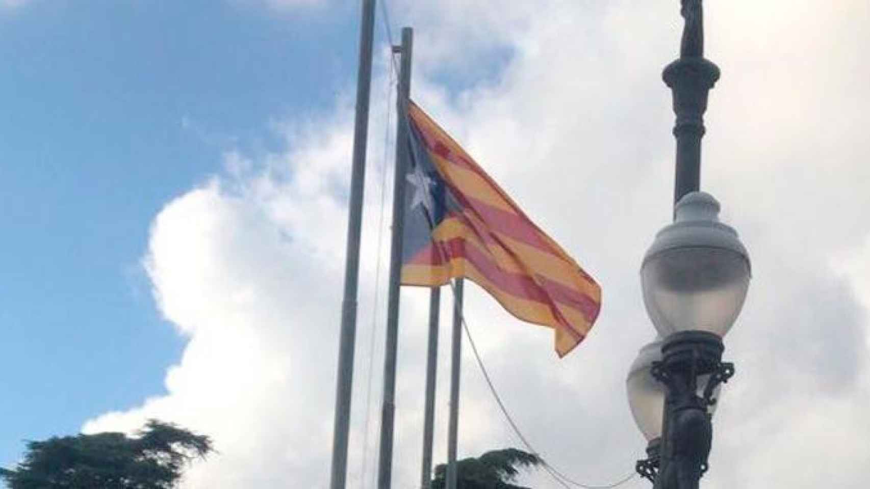
[[[299,12],[292,12],[296,16]],[[35,1],[0,8],[0,464],[164,392],[184,339],[140,261],[166,202],[270,122],[331,103],[357,10]]]

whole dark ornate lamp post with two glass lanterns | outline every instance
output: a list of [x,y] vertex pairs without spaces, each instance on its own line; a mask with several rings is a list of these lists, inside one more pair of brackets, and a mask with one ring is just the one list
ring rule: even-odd
[[647,314],[659,339],[641,349],[628,375],[632,414],[649,442],[637,465],[656,489],[696,489],[706,472],[719,388],[734,373],[722,337],[740,314],[750,262],[719,202],[699,192],[707,94],[719,69],[703,57],[701,0],[682,0],[680,57],[667,66],[677,122],[674,221],[656,235],[640,269]]

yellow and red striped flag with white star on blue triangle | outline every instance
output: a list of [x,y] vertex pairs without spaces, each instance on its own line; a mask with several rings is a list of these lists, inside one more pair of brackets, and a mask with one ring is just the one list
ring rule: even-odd
[[444,129],[415,103],[408,111],[402,284],[465,277],[520,320],[552,327],[565,356],[598,317],[599,285]]

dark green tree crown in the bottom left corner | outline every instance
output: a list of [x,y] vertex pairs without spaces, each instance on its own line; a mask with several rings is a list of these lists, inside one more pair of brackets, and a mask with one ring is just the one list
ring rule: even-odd
[[0,468],[10,489],[170,489],[211,439],[158,420],[137,436],[96,433],[29,441],[15,469]]

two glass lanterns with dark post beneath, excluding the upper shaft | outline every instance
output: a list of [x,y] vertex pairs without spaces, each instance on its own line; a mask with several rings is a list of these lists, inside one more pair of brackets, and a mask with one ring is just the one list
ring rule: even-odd
[[743,307],[750,264],[737,233],[718,215],[712,195],[687,194],[640,268],[646,312],[664,340],[641,349],[627,387],[632,413],[650,441],[649,459],[638,469],[657,487],[697,486],[710,452],[718,389],[734,372],[733,364],[721,361],[722,336]]

